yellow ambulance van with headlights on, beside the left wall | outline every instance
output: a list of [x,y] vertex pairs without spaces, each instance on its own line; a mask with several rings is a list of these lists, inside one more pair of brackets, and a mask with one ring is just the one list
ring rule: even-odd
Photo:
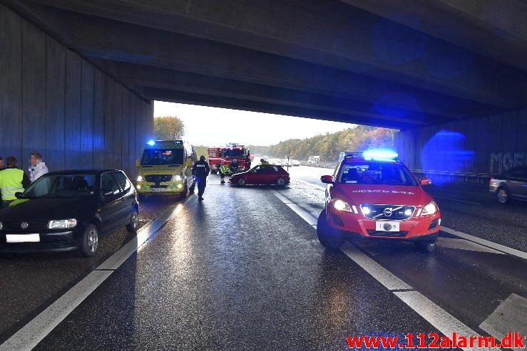
[[143,157],[135,161],[138,168],[137,191],[145,194],[179,194],[194,191],[192,165],[195,152],[183,140],[150,140]]

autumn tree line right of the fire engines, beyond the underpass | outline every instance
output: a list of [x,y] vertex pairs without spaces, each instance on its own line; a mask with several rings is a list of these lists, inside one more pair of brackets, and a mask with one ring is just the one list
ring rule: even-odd
[[340,152],[361,152],[372,147],[394,147],[394,130],[358,125],[340,132],[315,135],[305,139],[290,139],[276,145],[250,145],[247,148],[253,154],[269,157],[305,160],[318,155],[322,162],[339,159]]

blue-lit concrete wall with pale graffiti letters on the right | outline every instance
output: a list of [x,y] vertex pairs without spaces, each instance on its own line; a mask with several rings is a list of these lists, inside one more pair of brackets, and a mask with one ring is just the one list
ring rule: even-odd
[[501,173],[527,164],[527,110],[396,133],[410,169]]

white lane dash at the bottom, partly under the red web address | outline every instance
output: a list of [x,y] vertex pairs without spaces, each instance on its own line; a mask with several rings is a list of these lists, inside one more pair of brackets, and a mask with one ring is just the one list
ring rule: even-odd
[[[400,298],[406,305],[409,305],[410,308],[421,317],[426,319],[431,325],[434,325],[437,330],[443,333],[446,336],[452,335],[456,332],[458,335],[463,336],[478,336],[479,334],[471,328],[461,323],[457,318],[455,318],[446,310],[440,308],[438,305],[433,303],[431,300],[426,298],[424,295],[417,291],[396,291],[394,294]],[[477,345],[476,345],[477,346]],[[469,348],[466,347],[463,350],[491,350],[483,348]]]

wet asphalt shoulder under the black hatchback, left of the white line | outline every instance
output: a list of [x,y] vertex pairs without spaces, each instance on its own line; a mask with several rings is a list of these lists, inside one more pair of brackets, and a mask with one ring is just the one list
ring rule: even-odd
[[[177,198],[148,197],[140,202],[139,226],[148,224]],[[0,340],[11,335],[66,290],[133,238],[123,227],[101,238],[98,253],[77,251],[0,256]]]

